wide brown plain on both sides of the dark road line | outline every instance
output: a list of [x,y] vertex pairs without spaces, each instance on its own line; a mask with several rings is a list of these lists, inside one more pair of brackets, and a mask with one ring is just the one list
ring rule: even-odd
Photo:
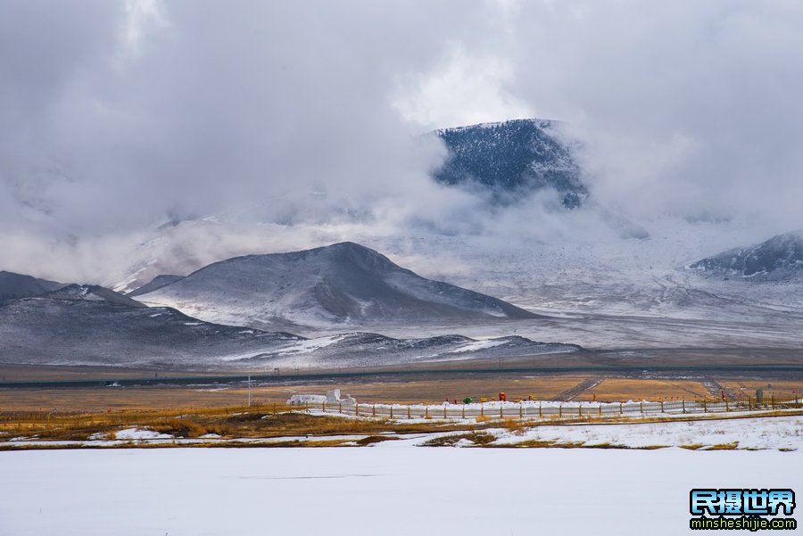
[[[311,370],[300,375],[265,377],[252,387],[256,402],[283,402],[301,392],[323,394],[340,388],[360,401],[440,402],[493,400],[672,400],[719,396],[791,398],[803,392],[803,350],[783,349],[619,349],[551,356],[418,363],[403,367]],[[773,366],[786,366],[774,371]],[[769,366],[761,371],[745,367]],[[622,367],[617,369],[617,367]],[[664,370],[659,370],[665,367]],[[666,367],[675,367],[666,370]],[[688,367],[688,368],[687,368]],[[725,368],[716,368],[725,367]],[[735,367],[729,369],[727,367]],[[741,368],[740,368],[741,367]],[[50,367],[0,365],[0,387],[9,382],[64,382],[65,385],[0,388],[0,411],[105,411],[108,408],[194,408],[244,404],[243,381],[213,383],[206,375],[269,375],[265,371],[153,370],[126,367]],[[366,375],[362,375],[366,374]],[[195,378],[197,384],[104,386],[113,380]],[[97,386],[69,386],[98,380]],[[195,383],[195,380],[185,383]]]

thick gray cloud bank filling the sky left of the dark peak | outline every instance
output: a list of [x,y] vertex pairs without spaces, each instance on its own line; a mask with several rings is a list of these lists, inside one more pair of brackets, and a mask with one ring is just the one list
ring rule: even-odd
[[0,82],[4,200],[29,218],[81,235],[310,193],[306,204],[360,210],[428,186],[439,147],[416,140],[390,101],[398,73],[450,38],[436,23],[445,13],[102,4],[3,13],[15,28]]

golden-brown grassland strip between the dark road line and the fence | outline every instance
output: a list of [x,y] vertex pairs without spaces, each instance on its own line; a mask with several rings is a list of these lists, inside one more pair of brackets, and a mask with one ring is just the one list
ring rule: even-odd
[[[292,394],[324,394],[341,388],[360,401],[439,402],[493,400],[506,392],[508,400],[556,400],[559,394],[584,383],[584,375],[500,375],[493,377],[455,377],[445,380],[365,383],[295,383],[252,387],[252,400],[257,403],[282,403]],[[740,392],[740,383],[749,385],[744,392],[753,396],[758,381],[722,381],[729,392]],[[779,398],[790,398],[803,391],[803,383],[774,382],[773,392]],[[694,400],[707,395],[698,381],[678,379],[640,379],[606,377],[601,383],[581,392],[572,400]],[[770,391],[766,391],[770,396]],[[0,389],[0,411],[105,411],[109,408],[198,408],[226,407],[244,404],[248,389],[242,383],[234,385],[88,387],[64,389]]]

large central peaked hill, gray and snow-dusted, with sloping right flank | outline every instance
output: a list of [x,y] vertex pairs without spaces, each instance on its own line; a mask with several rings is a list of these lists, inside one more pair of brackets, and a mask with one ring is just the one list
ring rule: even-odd
[[506,301],[425,279],[348,242],[223,260],[139,299],[210,322],[269,329],[536,317]]

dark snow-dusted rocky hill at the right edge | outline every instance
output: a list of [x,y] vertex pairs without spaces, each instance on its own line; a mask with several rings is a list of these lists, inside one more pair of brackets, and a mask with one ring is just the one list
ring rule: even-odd
[[689,266],[706,276],[780,281],[803,276],[803,234],[776,235],[763,243],[736,248]]

